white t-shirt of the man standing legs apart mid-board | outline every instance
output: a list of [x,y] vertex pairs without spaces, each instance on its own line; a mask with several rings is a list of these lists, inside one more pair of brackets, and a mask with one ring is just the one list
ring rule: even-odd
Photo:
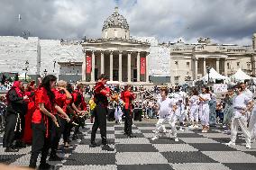
[[163,118],[172,112],[172,106],[175,105],[176,102],[173,98],[166,98],[164,101],[160,98],[157,104],[159,106],[159,116],[160,118]]

